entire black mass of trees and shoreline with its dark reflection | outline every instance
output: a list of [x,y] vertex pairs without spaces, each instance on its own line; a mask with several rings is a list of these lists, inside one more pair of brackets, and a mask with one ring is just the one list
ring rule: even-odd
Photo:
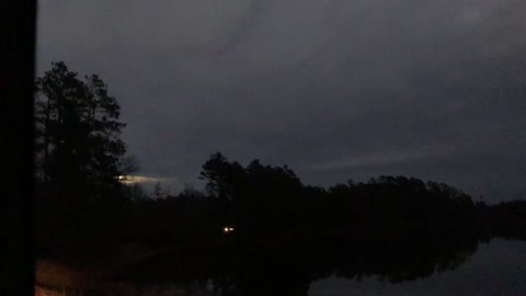
[[263,295],[255,283],[267,281],[306,295],[332,273],[414,280],[458,266],[479,241],[526,239],[526,202],[474,204],[454,186],[391,175],[310,186],[287,166],[243,167],[220,152],[202,167],[204,191],[148,198],[122,182],[138,161],[119,138],[119,111],[95,75],[55,62],[37,78],[39,258],[82,264],[124,242],[176,246],[121,276],[213,278],[221,295]]

